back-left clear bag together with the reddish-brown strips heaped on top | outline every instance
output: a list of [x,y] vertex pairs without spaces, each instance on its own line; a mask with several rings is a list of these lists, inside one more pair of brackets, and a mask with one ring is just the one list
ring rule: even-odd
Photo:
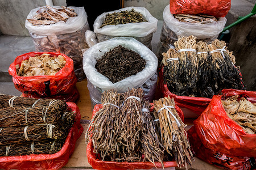
[[25,27],[30,32],[37,52],[64,53],[73,59],[79,81],[82,70],[82,50],[88,48],[85,31],[89,29],[83,7],[44,6],[30,11]]

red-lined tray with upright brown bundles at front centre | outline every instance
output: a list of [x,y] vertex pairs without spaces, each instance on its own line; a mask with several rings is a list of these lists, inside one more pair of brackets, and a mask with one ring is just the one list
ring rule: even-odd
[[[166,97],[163,101],[167,104],[166,107],[160,104],[161,100],[150,104],[143,98],[141,88],[132,88],[122,94],[114,90],[105,91],[102,94],[102,104],[94,107],[85,134],[86,143],[89,142],[88,162],[92,167],[167,168],[176,166],[175,160],[178,167],[187,168],[192,153],[187,152],[189,143],[183,129],[183,114],[170,98]],[[154,114],[157,114],[157,117],[153,116]],[[162,121],[167,117],[169,119]],[[160,126],[155,123],[157,121]],[[163,128],[171,133],[166,142]],[[166,146],[167,143],[173,144],[174,148]],[[165,147],[168,148],[167,152]]]

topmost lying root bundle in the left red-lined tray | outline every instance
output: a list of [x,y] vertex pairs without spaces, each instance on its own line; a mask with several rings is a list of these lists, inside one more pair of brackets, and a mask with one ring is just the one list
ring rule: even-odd
[[33,108],[35,106],[49,106],[48,109],[50,109],[51,111],[53,111],[52,109],[54,108],[56,108],[58,111],[65,111],[67,109],[67,103],[64,100],[32,99],[28,97],[0,94],[0,109],[20,106],[25,108]]

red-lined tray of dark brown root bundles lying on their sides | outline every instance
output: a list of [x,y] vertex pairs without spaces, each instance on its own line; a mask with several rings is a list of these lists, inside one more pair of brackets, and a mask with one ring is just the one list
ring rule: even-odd
[[[66,103],[64,100],[51,100],[49,102],[48,99],[39,100],[2,94],[0,96],[1,115],[5,113],[5,116],[2,115],[0,118],[0,168],[59,169],[67,164],[69,156],[75,149],[75,143],[83,131],[77,105],[70,102]],[[22,107],[22,103],[27,105],[27,108],[23,107],[23,111],[6,112],[6,109],[10,109],[6,105],[18,109]],[[39,107],[44,107],[43,114],[42,111],[36,111]],[[35,110],[30,112],[28,109]],[[60,113],[56,114],[56,112]],[[56,117],[56,115],[59,116]],[[52,118],[55,121],[50,124],[49,120]],[[36,128],[32,128],[33,134],[30,134],[30,127],[38,126],[40,128],[41,125],[48,126],[47,133],[51,133],[51,128],[59,126],[59,129],[62,129],[64,133],[63,138],[46,137],[42,139],[40,137],[40,135],[43,136],[42,131]],[[19,129],[23,131],[16,135]],[[36,136],[39,138],[35,139]],[[14,138],[16,140],[12,141]],[[3,144],[6,141],[8,142]]]

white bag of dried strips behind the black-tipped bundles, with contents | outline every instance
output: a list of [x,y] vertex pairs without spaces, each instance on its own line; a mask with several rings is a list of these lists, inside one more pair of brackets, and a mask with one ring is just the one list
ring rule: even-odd
[[[162,53],[175,48],[174,42],[179,37],[196,36],[196,41],[208,44],[217,39],[226,24],[226,18],[212,16],[173,15],[167,5],[163,11],[163,27],[160,33],[157,57],[162,62]],[[160,68],[160,63],[159,63]]]

